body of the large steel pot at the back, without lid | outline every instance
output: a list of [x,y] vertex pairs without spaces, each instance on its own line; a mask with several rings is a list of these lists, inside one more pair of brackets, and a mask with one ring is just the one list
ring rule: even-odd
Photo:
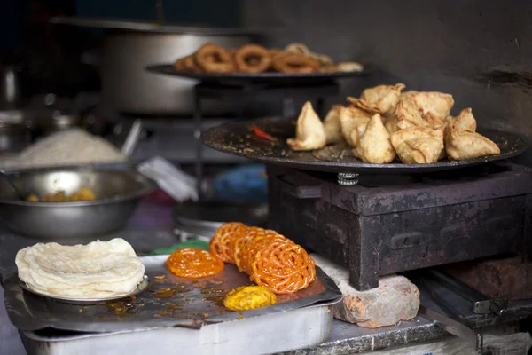
[[[248,36],[118,33],[106,36],[102,66],[102,100],[133,114],[192,114],[195,81],[153,75],[145,67],[172,63],[205,43],[238,47]],[[218,109],[216,109],[218,106]],[[204,106],[206,114],[222,114],[220,102]]]

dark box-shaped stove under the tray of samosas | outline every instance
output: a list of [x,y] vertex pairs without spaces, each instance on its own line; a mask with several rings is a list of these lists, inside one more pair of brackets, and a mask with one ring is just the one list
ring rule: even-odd
[[270,227],[349,268],[379,276],[519,253],[532,258],[532,169],[497,162],[417,175],[359,177],[269,165]]

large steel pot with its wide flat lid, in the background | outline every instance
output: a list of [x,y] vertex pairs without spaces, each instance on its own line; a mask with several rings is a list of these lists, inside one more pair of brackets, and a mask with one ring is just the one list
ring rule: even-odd
[[[193,114],[193,88],[197,82],[154,75],[145,67],[173,63],[205,43],[236,48],[254,42],[254,35],[239,28],[192,28],[78,18],[53,18],[51,21],[107,29],[98,70],[102,77],[102,104],[125,114]],[[87,53],[82,60],[96,66],[95,54],[94,51]],[[223,114],[229,107],[226,103],[212,101],[202,108],[204,114]]]

